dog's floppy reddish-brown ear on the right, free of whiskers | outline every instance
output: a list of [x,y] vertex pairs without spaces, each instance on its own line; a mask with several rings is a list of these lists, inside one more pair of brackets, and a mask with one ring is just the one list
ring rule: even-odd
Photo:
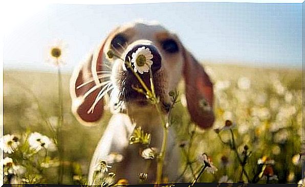
[[201,128],[209,128],[214,122],[213,84],[200,63],[183,49],[185,95],[191,119]]

